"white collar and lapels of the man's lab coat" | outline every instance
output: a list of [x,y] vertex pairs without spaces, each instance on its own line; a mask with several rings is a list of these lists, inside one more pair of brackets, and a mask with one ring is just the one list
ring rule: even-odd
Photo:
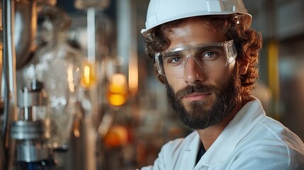
[[[254,101],[246,103],[203,155],[198,164],[196,164],[196,168],[200,166],[220,166],[223,164],[237,144],[264,116],[265,112],[257,98]],[[191,164],[193,162],[193,166],[191,167],[195,165],[196,154],[193,153],[198,152],[200,142],[200,137],[196,134],[196,137],[188,147],[188,151],[191,152],[185,152],[184,160],[188,160],[188,167],[189,162]]]

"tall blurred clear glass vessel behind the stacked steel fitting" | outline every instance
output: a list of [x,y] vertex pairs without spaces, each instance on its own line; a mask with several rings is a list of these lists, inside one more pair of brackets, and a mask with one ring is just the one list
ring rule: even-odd
[[74,116],[80,114],[81,52],[67,42],[65,34],[71,20],[66,13],[55,7],[43,8],[39,21],[38,49],[22,74],[26,86],[33,79],[45,85],[48,95],[46,111],[36,108],[34,119],[50,122],[51,137],[47,145],[59,148],[67,144]]

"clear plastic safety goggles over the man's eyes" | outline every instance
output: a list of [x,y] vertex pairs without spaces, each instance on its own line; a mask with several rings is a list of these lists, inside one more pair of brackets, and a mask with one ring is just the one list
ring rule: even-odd
[[188,60],[194,60],[202,72],[215,72],[235,61],[237,50],[233,40],[203,45],[188,45],[155,55],[157,71],[165,77],[183,78]]

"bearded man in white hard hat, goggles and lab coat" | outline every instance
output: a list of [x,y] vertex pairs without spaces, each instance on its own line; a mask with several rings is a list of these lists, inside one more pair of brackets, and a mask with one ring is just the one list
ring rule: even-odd
[[142,169],[304,169],[304,145],[251,96],[261,35],[242,0],[151,0],[147,54],[179,119],[195,130]]

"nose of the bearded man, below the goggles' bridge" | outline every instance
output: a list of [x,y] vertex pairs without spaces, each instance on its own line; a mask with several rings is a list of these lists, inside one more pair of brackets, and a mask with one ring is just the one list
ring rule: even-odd
[[188,57],[184,66],[184,81],[188,84],[196,84],[204,81],[203,68],[194,57]]

